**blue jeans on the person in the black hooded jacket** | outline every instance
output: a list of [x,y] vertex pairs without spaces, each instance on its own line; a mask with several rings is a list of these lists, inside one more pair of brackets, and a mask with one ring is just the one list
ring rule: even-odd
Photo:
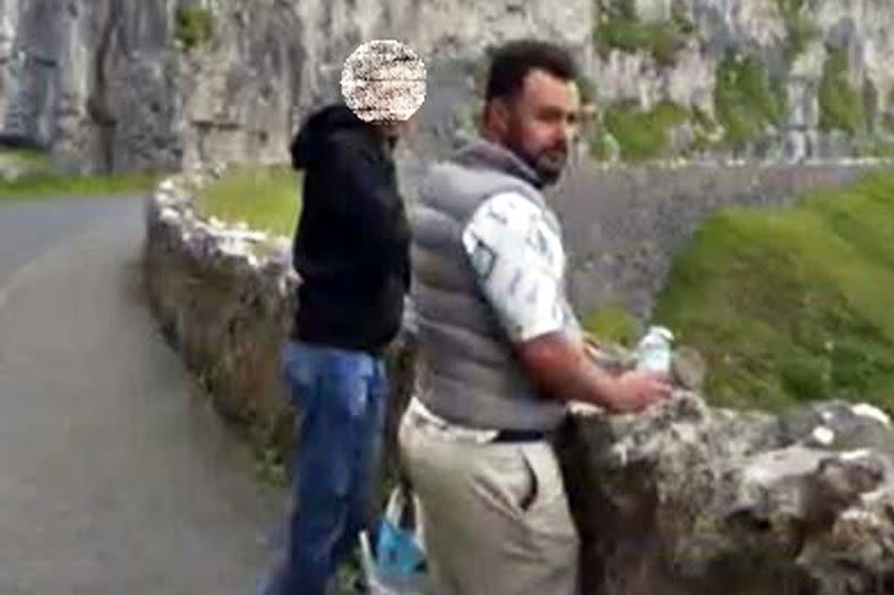
[[322,595],[358,543],[375,486],[387,381],[361,351],[288,342],[288,395],[298,410],[286,560],[263,595]]

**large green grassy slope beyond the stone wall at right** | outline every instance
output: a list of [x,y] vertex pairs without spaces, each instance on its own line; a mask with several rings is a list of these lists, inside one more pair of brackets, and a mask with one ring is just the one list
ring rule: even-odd
[[776,211],[732,209],[677,258],[653,321],[709,360],[713,403],[894,411],[894,174]]

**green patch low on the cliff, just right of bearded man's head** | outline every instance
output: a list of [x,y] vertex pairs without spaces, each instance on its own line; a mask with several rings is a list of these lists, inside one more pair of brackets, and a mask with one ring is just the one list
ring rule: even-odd
[[618,141],[621,159],[643,161],[664,156],[668,130],[689,117],[689,110],[670,102],[659,104],[650,111],[619,104],[606,109],[604,124]]

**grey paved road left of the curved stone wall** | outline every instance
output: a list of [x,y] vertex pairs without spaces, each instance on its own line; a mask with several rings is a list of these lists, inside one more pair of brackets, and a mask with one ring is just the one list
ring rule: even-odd
[[141,302],[139,199],[0,203],[0,594],[251,594],[281,496]]

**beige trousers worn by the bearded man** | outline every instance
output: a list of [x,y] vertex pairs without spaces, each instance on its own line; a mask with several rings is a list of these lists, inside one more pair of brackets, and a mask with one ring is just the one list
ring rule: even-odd
[[476,444],[412,410],[400,442],[435,595],[578,593],[578,536],[546,442]]

